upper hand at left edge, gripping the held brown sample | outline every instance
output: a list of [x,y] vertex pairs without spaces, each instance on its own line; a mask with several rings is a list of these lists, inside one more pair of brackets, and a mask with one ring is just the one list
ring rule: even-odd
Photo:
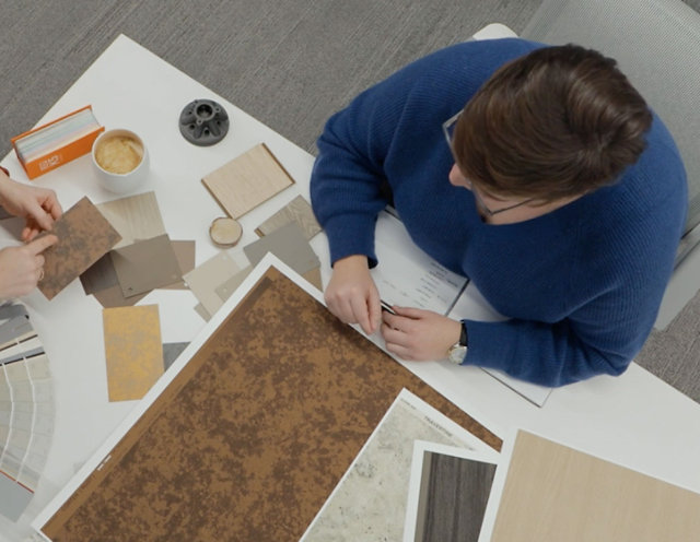
[[2,175],[0,180],[0,204],[14,216],[26,220],[22,240],[32,240],[40,232],[51,229],[54,222],[63,213],[56,192],[48,188],[16,182]]

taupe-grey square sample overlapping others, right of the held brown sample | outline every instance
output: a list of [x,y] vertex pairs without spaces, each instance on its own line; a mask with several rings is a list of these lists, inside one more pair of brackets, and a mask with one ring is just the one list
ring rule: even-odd
[[167,235],[117,248],[109,255],[125,297],[143,294],[182,279],[179,263]]

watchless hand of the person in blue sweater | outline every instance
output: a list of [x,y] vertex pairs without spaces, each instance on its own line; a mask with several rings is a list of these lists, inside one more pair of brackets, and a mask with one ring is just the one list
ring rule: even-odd
[[324,297],[330,311],[343,322],[359,323],[368,334],[380,327],[380,293],[370,275],[366,256],[348,256],[336,261]]

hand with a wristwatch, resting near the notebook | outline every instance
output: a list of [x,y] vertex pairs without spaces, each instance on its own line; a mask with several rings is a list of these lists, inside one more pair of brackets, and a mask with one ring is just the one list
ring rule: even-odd
[[419,308],[392,307],[396,315],[382,314],[382,337],[386,350],[401,360],[424,362],[443,360],[459,340],[457,320]]

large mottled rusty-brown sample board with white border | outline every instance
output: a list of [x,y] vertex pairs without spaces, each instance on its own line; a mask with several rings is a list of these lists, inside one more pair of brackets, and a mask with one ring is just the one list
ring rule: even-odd
[[500,447],[275,269],[210,333],[51,540],[296,541],[402,388]]

